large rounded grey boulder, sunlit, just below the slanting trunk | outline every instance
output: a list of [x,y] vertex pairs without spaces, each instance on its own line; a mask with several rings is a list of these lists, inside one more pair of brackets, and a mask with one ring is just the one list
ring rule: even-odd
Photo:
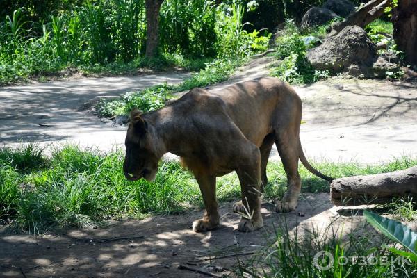
[[377,51],[365,30],[359,26],[347,26],[338,35],[311,49],[307,58],[318,70],[370,76]]

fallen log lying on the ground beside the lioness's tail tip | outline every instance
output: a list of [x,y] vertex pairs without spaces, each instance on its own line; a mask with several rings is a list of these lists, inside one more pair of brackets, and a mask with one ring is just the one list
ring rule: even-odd
[[385,174],[334,179],[330,195],[336,206],[384,204],[402,197],[413,197],[417,202],[417,166]]

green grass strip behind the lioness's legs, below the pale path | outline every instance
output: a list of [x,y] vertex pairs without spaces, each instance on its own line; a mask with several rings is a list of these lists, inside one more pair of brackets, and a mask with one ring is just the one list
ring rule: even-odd
[[[35,145],[0,149],[0,220],[39,233],[51,226],[83,226],[109,218],[142,217],[202,208],[193,175],[177,162],[161,162],[153,183],[127,181],[121,151],[104,154],[74,145],[54,149],[51,156]],[[387,165],[316,163],[332,177],[390,172],[416,165],[400,158]],[[303,191],[328,192],[325,181],[300,167]],[[286,177],[280,163],[269,163],[265,199],[281,196]],[[240,197],[236,174],[218,178],[220,202]]]

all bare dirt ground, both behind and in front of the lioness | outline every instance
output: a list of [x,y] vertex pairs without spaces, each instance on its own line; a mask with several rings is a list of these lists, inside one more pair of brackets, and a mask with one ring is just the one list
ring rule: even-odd
[[[265,76],[270,62],[269,58],[253,60],[231,81],[208,89]],[[182,74],[137,76],[0,88],[0,143],[13,146],[22,139],[44,145],[79,142],[102,150],[121,147],[126,127],[92,117],[85,106],[97,97],[183,78]],[[336,78],[295,90],[303,100],[301,139],[311,160],[379,163],[402,154],[416,155],[416,83]],[[271,159],[279,159],[276,149]],[[201,211],[54,230],[42,236],[0,227],[0,277],[206,277],[179,270],[180,264],[213,273],[217,266],[219,275],[227,275],[236,258],[248,258],[245,253],[256,252],[272,240],[282,222],[289,229],[320,231],[337,220],[334,229],[337,223],[343,224],[345,232],[363,229],[361,216],[345,216],[346,209],[333,206],[327,193],[304,193],[292,213],[272,211],[265,204],[265,227],[251,234],[236,230],[239,217],[231,213],[231,203],[220,208],[220,228],[204,234],[190,229]]]

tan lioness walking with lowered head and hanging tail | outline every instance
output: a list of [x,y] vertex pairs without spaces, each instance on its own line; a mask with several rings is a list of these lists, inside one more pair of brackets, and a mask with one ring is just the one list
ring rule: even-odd
[[207,231],[219,224],[215,179],[236,171],[242,200],[233,211],[243,215],[240,231],[254,231],[263,226],[261,193],[274,142],[288,179],[277,211],[293,211],[297,206],[299,158],[313,174],[332,180],[311,167],[302,152],[301,113],[300,97],[275,78],[237,83],[219,92],[195,88],[161,110],[131,112],[124,174],[131,181],[142,177],[152,181],[163,154],[180,156],[195,175],[206,206],[203,218],[193,222],[193,230]]

